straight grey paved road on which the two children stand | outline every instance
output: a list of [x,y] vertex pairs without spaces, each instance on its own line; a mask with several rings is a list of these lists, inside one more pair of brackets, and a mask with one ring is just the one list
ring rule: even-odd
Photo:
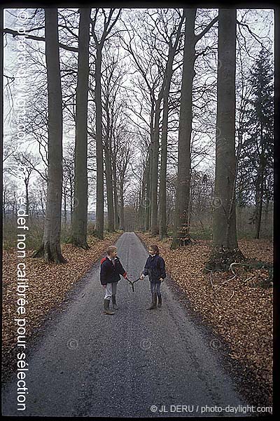
[[[127,232],[116,246],[129,278],[137,279],[148,256],[143,244]],[[218,416],[230,414],[202,414],[201,408],[247,405],[221,365],[218,350],[211,348],[200,323],[190,320],[166,282],[162,308],[148,311],[148,277],[134,284],[135,293],[122,277],[120,309],[108,316],[102,312],[99,269],[94,265],[87,273],[83,288],[75,291],[74,286],[66,311],[57,312],[31,349],[25,411],[17,410],[15,375],[3,385],[3,415]],[[163,405],[167,412],[160,413]],[[176,405],[193,413],[172,412]]]

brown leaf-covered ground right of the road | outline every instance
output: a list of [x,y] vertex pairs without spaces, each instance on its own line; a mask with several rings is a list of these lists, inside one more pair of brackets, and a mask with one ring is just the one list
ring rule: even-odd
[[[260,388],[260,394],[272,402],[273,288],[267,288],[267,269],[235,267],[232,272],[203,269],[211,251],[209,240],[196,240],[190,246],[171,250],[172,239],[137,232],[147,245],[157,243],[165,259],[167,272],[186,294],[193,310],[211,325],[230,346],[230,358],[240,361]],[[240,239],[239,248],[246,258],[272,264],[273,243],[269,240]],[[265,287],[266,286],[266,287]]]

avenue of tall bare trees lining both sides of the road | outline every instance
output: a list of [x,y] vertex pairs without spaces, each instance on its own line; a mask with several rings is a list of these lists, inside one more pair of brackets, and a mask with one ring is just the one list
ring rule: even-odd
[[[195,203],[201,203],[193,180],[201,173],[202,185],[213,178],[204,198],[213,214],[211,265],[244,258],[236,207],[253,205],[259,238],[262,205],[268,209],[272,201],[272,43],[270,16],[262,12],[36,9],[24,42],[32,68],[40,69],[34,86],[41,100],[27,109],[27,134],[37,146],[19,152],[11,136],[6,147],[13,163],[7,172],[15,175],[17,159],[27,168],[27,209],[31,178],[36,174],[48,187],[44,210],[41,200],[43,241],[34,257],[65,261],[60,227],[69,209],[69,241],[89,247],[92,198],[100,239],[105,205],[106,229],[113,232],[125,229],[126,202],[134,208],[135,229],[162,239],[172,234],[172,248],[186,246]],[[248,25],[251,16],[262,18],[265,36]]]

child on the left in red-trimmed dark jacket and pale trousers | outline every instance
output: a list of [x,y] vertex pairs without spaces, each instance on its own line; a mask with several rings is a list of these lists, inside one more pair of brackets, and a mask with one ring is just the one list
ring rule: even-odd
[[127,272],[123,269],[120,259],[117,256],[117,248],[110,246],[106,250],[107,256],[101,261],[100,267],[100,282],[105,289],[104,297],[104,314],[115,314],[109,309],[110,300],[112,298],[113,309],[118,310],[116,303],[117,284],[120,281],[120,275],[127,277]]

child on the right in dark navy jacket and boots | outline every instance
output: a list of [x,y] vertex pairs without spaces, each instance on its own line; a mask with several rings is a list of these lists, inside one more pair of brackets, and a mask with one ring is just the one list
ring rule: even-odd
[[150,255],[146,261],[146,265],[140,276],[140,279],[144,279],[146,275],[149,276],[151,283],[152,304],[147,309],[153,310],[157,308],[157,296],[158,307],[162,307],[160,285],[161,282],[166,278],[165,260],[163,260],[163,258],[160,256],[160,250],[155,244],[151,245],[148,251]]

